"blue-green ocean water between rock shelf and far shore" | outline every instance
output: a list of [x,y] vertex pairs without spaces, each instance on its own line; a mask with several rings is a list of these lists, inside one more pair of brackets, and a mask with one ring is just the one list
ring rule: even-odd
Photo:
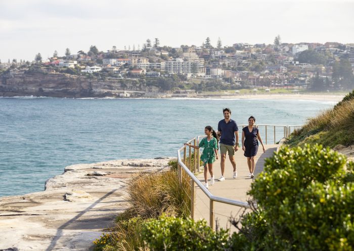
[[[204,134],[206,125],[217,129],[225,107],[238,124],[247,124],[253,115],[256,124],[296,125],[334,104],[286,99],[0,98],[0,197],[41,191],[47,179],[68,165],[175,157],[183,142]],[[281,129],[277,140],[282,135]]]

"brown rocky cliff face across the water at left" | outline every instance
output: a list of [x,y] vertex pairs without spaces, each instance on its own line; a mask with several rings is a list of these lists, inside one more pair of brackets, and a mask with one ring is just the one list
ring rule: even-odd
[[145,92],[159,91],[135,79],[88,78],[55,71],[26,73],[11,70],[0,75],[0,96],[50,97],[140,97]]

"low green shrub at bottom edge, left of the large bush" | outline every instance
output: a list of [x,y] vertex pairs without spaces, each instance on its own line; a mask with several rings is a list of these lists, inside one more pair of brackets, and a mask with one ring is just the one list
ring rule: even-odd
[[229,234],[226,230],[213,231],[205,220],[160,217],[148,220],[142,231],[151,250],[225,250]]

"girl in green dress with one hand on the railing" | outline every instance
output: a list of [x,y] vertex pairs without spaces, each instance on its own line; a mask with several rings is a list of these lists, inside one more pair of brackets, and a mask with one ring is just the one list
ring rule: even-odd
[[211,126],[206,126],[204,128],[204,133],[206,135],[205,138],[203,138],[200,143],[199,146],[197,145],[191,145],[191,144],[187,144],[185,143],[185,145],[191,146],[195,149],[199,149],[200,147],[204,147],[203,153],[200,157],[200,159],[202,160],[202,162],[204,163],[204,179],[205,179],[205,187],[208,188],[208,168],[209,168],[209,173],[210,173],[210,185],[213,185],[215,183],[214,180],[214,175],[212,172],[212,163],[216,160],[218,160],[217,157],[217,140],[218,140],[218,136],[216,134],[216,132],[214,131],[214,129],[212,129]]

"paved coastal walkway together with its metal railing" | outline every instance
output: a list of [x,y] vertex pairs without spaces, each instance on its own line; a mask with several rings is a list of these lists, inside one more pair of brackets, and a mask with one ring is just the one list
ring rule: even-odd
[[[239,125],[244,127],[247,125]],[[302,125],[257,125],[260,134],[263,135],[263,143],[267,149],[265,153],[262,147],[258,148],[256,156],[256,168],[254,175],[263,171],[264,159],[273,156],[282,142],[290,133]],[[205,137],[196,136],[187,143],[198,145],[200,140]],[[277,142],[279,143],[277,144]],[[238,177],[233,178],[233,168],[229,157],[226,157],[225,163],[225,181],[217,181],[221,176],[220,158],[213,165],[215,184],[210,185],[209,189],[204,187],[203,167],[200,166],[200,151],[192,149],[191,146],[182,146],[177,150],[178,157],[178,177],[185,194],[188,196],[185,207],[189,209],[192,219],[205,219],[213,229],[228,228],[231,232],[236,231],[230,220],[236,218],[246,211],[251,210],[247,191],[251,188],[254,179],[248,177],[249,170],[247,159],[243,156],[244,152],[239,148],[235,153],[236,168]],[[208,174],[210,180],[210,174]],[[210,182],[210,181],[209,181]]]

